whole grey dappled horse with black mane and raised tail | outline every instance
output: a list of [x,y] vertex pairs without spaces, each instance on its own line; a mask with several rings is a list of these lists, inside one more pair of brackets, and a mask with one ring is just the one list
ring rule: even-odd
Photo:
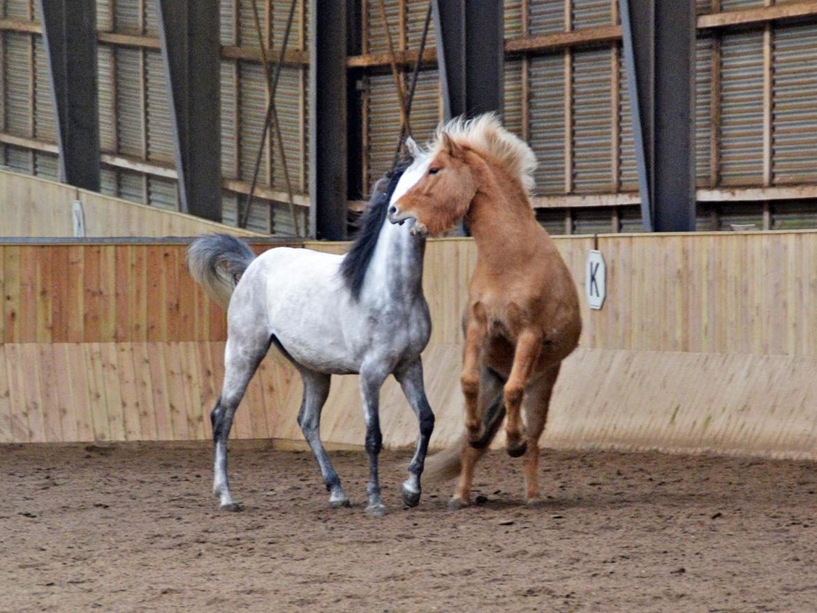
[[386,221],[391,202],[426,170],[426,156],[413,141],[407,150],[413,161],[404,161],[378,182],[359,238],[344,256],[280,247],[256,257],[246,244],[227,235],[202,236],[190,245],[190,274],[227,308],[224,385],[211,415],[213,493],[221,499],[221,508],[240,508],[227,482],[227,436],[235,409],[271,344],[301,374],[304,395],[298,424],[334,507],[348,506],[349,499],[319,436],[330,377],[360,375],[369,462],[367,511],[380,515],[386,507],[377,478],[382,446],[377,403],[380,387],[394,374],[419,422],[417,450],[403,483],[404,503],[419,503],[420,476],[434,428],[420,359],[431,334],[422,293],[426,241],[413,234],[411,223],[395,226]]

